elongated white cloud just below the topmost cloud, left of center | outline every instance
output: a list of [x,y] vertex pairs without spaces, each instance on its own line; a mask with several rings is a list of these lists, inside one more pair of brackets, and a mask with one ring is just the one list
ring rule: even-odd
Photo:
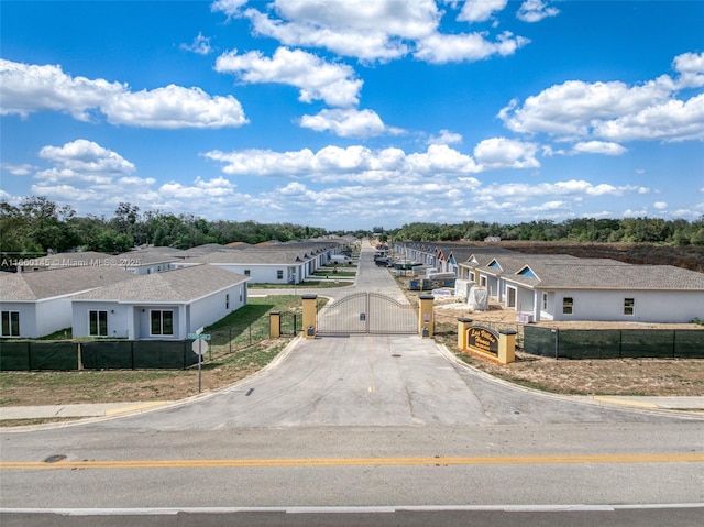
[[279,83],[300,89],[304,102],[323,100],[330,106],[352,106],[359,102],[363,81],[344,64],[327,63],[300,50],[279,47],[268,58],[261,52],[239,55],[232,51],[220,55],[216,70],[232,73],[244,83]]

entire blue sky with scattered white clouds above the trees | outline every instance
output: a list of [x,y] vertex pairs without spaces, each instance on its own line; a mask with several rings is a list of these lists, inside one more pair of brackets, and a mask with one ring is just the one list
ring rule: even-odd
[[0,1],[0,198],[331,230],[704,215],[704,2]]

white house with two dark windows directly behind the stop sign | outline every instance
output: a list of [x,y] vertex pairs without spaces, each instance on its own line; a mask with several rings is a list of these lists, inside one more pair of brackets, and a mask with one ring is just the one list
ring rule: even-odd
[[246,305],[246,276],[194,265],[72,298],[74,337],[184,340]]

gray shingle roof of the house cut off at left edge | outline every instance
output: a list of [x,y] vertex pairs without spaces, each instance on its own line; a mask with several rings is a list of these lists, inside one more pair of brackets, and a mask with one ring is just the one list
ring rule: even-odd
[[70,295],[136,276],[114,266],[62,267],[37,273],[0,273],[0,299],[32,301]]

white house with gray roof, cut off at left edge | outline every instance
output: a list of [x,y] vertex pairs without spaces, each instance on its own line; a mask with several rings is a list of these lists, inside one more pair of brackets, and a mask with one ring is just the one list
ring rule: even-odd
[[0,272],[0,337],[35,339],[69,328],[74,295],[133,278],[132,273],[111,265]]

